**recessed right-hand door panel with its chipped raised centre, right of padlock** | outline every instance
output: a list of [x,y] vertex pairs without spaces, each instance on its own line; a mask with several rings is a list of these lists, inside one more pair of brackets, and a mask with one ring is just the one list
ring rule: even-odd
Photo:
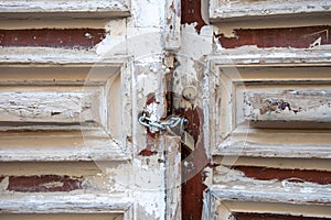
[[[329,158],[330,67],[221,67],[214,153]],[[217,91],[216,89],[216,91]]]

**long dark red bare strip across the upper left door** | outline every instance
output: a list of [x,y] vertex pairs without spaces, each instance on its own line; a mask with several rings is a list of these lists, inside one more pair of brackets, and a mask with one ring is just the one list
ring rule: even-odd
[[0,46],[90,48],[105,36],[104,29],[0,30]]

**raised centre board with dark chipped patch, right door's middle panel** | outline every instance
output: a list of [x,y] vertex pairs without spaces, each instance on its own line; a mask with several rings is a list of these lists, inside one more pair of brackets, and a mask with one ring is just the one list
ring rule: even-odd
[[[270,92],[270,90],[275,90]],[[244,92],[244,118],[258,122],[313,122],[300,124],[300,128],[331,122],[331,90],[320,88],[277,89],[270,85],[255,91]],[[288,128],[287,124],[284,124]]]

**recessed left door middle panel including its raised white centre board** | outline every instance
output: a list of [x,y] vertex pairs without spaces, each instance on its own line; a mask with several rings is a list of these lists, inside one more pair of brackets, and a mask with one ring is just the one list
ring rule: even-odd
[[126,157],[120,64],[2,65],[0,72],[1,161]]

